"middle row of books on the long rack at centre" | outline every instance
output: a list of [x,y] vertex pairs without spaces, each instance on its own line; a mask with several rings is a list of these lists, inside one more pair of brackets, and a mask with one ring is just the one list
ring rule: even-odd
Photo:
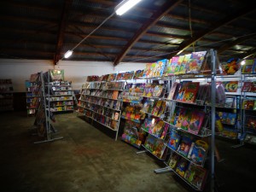
[[79,98],[79,104],[82,105],[83,102],[90,102],[90,103],[94,103],[96,105],[100,105],[102,107],[113,108],[116,110],[119,110],[120,105],[121,105],[121,102],[119,102],[117,100],[96,97],[96,96],[81,95]]

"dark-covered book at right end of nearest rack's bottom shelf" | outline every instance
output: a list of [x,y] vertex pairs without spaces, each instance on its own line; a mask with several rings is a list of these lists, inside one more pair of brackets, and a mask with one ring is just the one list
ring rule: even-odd
[[195,186],[196,189],[202,190],[206,182],[207,170],[201,166],[196,166],[195,164],[190,163],[184,174],[184,178]]

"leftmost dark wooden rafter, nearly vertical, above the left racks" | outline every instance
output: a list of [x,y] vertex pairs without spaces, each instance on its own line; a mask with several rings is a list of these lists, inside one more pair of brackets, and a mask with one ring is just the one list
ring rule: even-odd
[[59,25],[58,39],[55,48],[54,64],[56,65],[61,59],[61,48],[63,45],[64,33],[67,26],[68,12],[73,0],[66,0],[62,9],[61,22]]

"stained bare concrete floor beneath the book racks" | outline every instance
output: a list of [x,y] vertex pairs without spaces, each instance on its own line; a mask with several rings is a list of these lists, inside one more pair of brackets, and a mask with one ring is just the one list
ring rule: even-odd
[[[84,122],[76,113],[55,115],[64,139],[34,144],[33,117],[24,112],[1,113],[0,172],[3,192],[186,192],[193,191],[173,173],[155,174],[163,163],[137,148],[114,141],[114,131]],[[230,148],[218,140],[224,161],[217,163],[218,191],[255,191],[256,150]],[[206,189],[207,190],[207,189]]]

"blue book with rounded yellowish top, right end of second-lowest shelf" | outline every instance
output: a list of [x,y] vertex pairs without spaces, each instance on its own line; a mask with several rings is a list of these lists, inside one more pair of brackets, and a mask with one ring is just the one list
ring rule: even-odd
[[196,140],[195,143],[191,144],[188,158],[197,165],[203,166],[207,157],[209,145],[202,141]]

